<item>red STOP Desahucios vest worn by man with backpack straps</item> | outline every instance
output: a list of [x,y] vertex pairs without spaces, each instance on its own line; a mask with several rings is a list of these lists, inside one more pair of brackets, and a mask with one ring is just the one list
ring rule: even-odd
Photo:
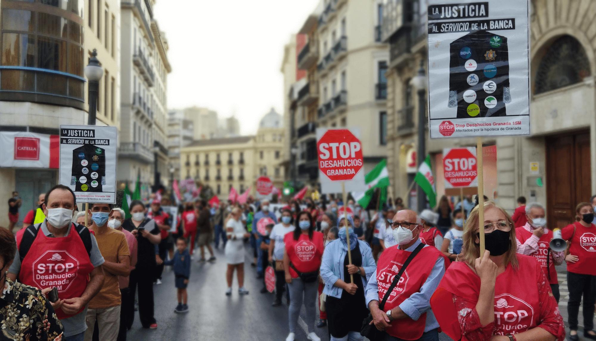
[[[20,240],[18,242],[20,244]],[[56,287],[58,298],[69,299],[82,296],[93,269],[85,244],[75,224],[71,224],[69,235],[63,238],[46,237],[43,231],[38,231],[21,263],[18,278],[21,283],[39,289]],[[85,307],[79,312],[83,309]],[[56,310],[56,315],[60,320],[73,316],[65,314],[61,308]]]

